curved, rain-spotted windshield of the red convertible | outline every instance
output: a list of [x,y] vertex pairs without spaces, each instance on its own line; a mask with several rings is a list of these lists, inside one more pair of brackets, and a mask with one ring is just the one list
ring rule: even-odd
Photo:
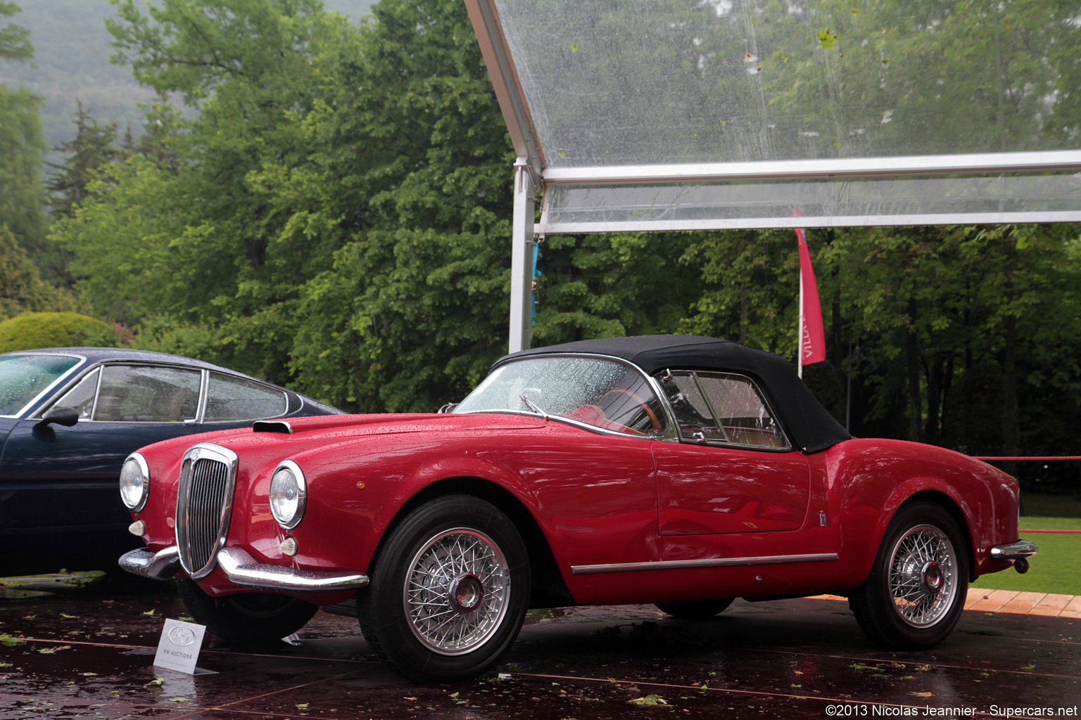
[[533,412],[628,435],[662,435],[667,421],[641,372],[578,356],[530,357],[501,365],[453,412]]

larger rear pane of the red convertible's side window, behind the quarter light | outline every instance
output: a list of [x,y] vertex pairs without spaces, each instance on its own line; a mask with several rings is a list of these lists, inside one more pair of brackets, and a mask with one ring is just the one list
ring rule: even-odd
[[788,447],[780,427],[749,379],[699,373],[698,382],[730,443],[760,448]]

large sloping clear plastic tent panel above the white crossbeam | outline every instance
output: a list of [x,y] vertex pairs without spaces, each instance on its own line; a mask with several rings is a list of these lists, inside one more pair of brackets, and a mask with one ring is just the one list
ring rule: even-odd
[[552,168],[1078,147],[1076,1],[494,4]]

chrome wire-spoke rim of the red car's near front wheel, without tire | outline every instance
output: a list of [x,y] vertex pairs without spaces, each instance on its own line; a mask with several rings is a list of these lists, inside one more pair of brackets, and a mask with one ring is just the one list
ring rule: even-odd
[[441,655],[482,646],[499,628],[510,598],[510,572],[491,538],[470,528],[445,530],[410,562],[402,600],[410,629]]

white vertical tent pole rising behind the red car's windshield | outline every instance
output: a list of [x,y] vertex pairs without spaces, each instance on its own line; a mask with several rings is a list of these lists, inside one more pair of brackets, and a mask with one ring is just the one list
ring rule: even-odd
[[510,339],[507,352],[528,350],[533,335],[533,176],[529,161],[515,163],[515,215],[510,231]]

